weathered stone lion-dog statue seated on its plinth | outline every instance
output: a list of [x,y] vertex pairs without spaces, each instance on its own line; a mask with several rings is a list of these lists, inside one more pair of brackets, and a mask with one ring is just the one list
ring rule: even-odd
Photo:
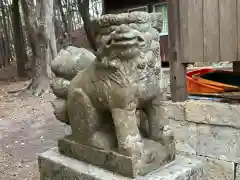
[[[71,126],[74,141],[117,151],[140,164],[174,159],[173,135],[161,105],[161,22],[160,14],[145,12],[104,15],[95,21],[96,57],[82,53],[85,60],[90,57],[83,68],[73,59],[53,60],[55,115]],[[145,139],[161,148],[149,150]]]

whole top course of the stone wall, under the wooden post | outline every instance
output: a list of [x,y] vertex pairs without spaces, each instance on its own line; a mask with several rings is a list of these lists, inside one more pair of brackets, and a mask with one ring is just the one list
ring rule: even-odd
[[165,102],[168,118],[189,122],[240,128],[240,105],[206,100]]

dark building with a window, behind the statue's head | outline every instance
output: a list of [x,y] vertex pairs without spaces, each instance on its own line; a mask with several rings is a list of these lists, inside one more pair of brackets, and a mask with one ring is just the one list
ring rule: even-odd
[[[163,29],[160,34],[161,60],[168,58],[168,13],[167,0],[103,0],[104,13],[123,13],[132,11],[162,12]],[[166,63],[168,64],[168,63]]]

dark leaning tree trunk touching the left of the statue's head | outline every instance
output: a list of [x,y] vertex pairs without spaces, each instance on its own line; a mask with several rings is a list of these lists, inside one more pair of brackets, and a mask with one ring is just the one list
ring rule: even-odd
[[89,0],[78,0],[78,10],[82,16],[83,23],[84,23],[84,30],[86,32],[86,36],[88,38],[88,41],[94,51],[97,51],[96,41],[90,20],[90,14],[89,14]]

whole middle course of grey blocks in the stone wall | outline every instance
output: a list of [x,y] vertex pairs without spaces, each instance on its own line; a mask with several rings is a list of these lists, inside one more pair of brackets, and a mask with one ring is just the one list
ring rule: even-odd
[[186,121],[169,121],[180,152],[240,162],[240,130]]

